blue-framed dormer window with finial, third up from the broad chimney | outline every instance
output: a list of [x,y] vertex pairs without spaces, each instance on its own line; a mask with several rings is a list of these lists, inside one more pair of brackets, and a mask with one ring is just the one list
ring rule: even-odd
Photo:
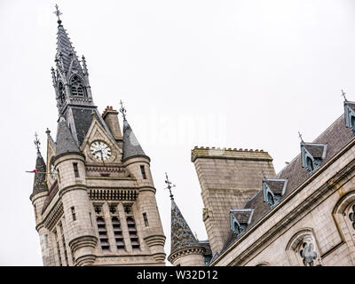
[[301,143],[302,166],[313,173],[318,170],[321,162],[326,158],[327,144]]

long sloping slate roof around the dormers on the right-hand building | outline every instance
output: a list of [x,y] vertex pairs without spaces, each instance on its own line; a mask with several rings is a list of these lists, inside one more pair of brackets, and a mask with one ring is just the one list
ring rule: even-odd
[[[342,114],[312,143],[327,144],[327,153],[325,158],[322,160],[322,165],[324,165],[327,161],[334,157],[335,154],[340,152],[352,139],[354,139],[354,134],[352,130],[346,128],[345,117],[344,114]],[[286,191],[284,195],[282,195],[280,201],[286,198],[288,194],[296,190],[299,185],[302,185],[304,181],[311,176],[312,174],[302,167],[301,154],[298,154],[292,162],[290,162],[283,170],[273,177],[275,179],[288,180]],[[271,210],[270,207],[264,202],[263,189],[260,189],[252,198],[250,198],[244,208],[254,209],[251,222],[247,226],[246,231],[248,231],[253,225],[256,224],[257,221],[259,221]],[[223,248],[222,251],[228,248],[236,240],[237,237],[235,235],[230,235],[230,238],[225,242],[225,248]]]

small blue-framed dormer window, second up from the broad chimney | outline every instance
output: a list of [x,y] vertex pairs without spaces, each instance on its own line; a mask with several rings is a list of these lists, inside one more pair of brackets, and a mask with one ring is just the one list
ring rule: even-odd
[[287,179],[264,178],[263,179],[263,196],[270,208],[274,208],[286,191],[288,184]]

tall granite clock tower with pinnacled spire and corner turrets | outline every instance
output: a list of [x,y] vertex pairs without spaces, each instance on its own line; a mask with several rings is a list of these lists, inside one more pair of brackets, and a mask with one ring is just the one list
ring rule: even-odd
[[[34,205],[44,265],[164,265],[165,235],[150,158],[126,119],[95,106],[85,58],[79,60],[58,16],[52,83],[59,111],[37,142]],[[122,133],[123,132],[123,133]]]

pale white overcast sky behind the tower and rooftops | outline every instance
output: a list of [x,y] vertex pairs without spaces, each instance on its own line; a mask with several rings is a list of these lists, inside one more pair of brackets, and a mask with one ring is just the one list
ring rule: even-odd
[[29,195],[35,131],[46,154],[58,111],[51,83],[54,5],[94,102],[119,107],[151,169],[170,253],[169,173],[175,200],[200,240],[201,188],[193,146],[264,149],[276,172],[355,100],[351,0],[0,0],[0,264],[42,265]]

